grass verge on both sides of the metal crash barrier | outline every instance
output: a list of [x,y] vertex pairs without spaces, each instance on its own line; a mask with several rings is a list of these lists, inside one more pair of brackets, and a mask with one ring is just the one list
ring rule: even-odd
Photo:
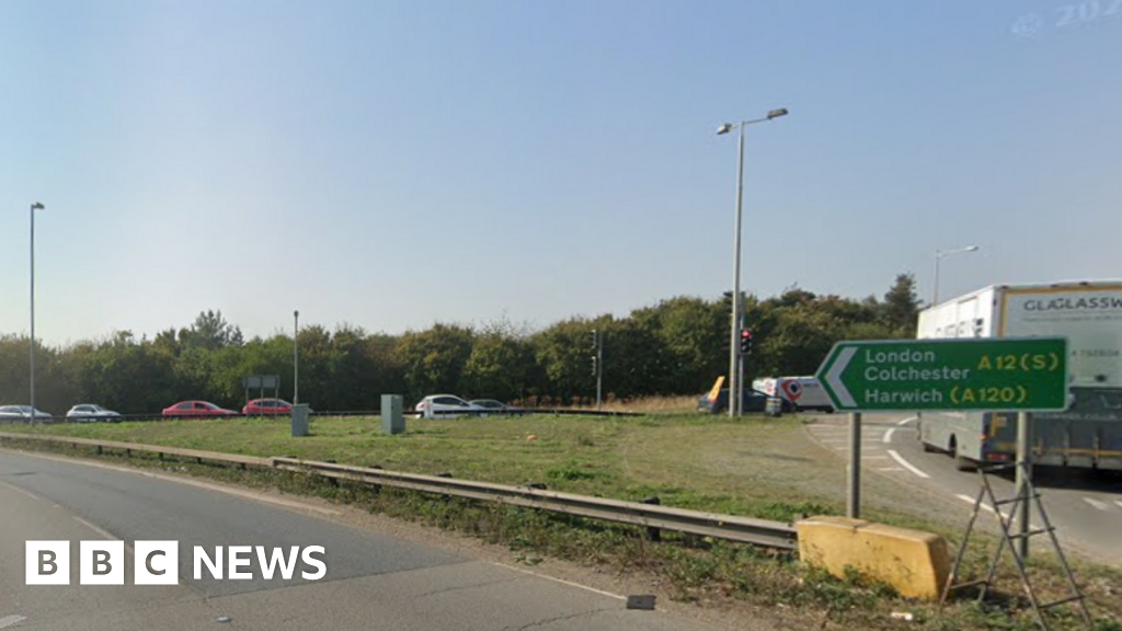
[[[819,484],[819,476],[837,472],[815,461],[795,418],[726,421],[697,417],[608,420],[528,417],[410,420],[410,427],[404,436],[384,437],[377,433],[378,426],[373,419],[318,419],[313,423],[314,436],[304,439],[289,438],[283,421],[254,419],[22,429],[255,456],[292,454],[358,465],[379,464],[387,469],[414,473],[451,472],[457,477],[489,482],[545,482],[550,488],[620,499],[659,494],[668,505],[764,519],[789,520],[803,513],[840,510],[839,499]],[[44,447],[34,445],[36,449]],[[92,449],[56,447],[54,450],[94,454]],[[142,456],[103,457],[135,466],[168,467],[167,460]],[[303,474],[242,472],[192,463],[180,463],[174,469],[320,496],[452,529],[505,546],[516,561],[527,565],[551,556],[607,566],[620,573],[643,573],[677,600],[715,606],[743,602],[797,612],[795,618],[808,627],[892,629],[902,623],[891,614],[908,612],[913,615],[908,625],[916,629],[1034,628],[1010,568],[1003,568],[999,578],[1000,588],[993,594],[996,605],[959,600],[940,614],[931,604],[900,598],[891,588],[870,584],[856,575],[839,580],[794,563],[788,554],[748,546],[669,533],[662,542],[653,543],[637,528],[493,503],[332,483]],[[879,512],[880,521],[927,527],[954,539],[955,533],[946,525],[903,511]],[[976,552],[969,559],[971,573],[981,573],[984,563],[984,555]],[[1045,598],[1061,594],[1063,584],[1056,569],[1047,561],[1033,563],[1033,577]],[[1077,571],[1098,616],[1096,630],[1122,631],[1119,591],[1122,573],[1089,564],[1082,564]],[[1057,629],[1079,628],[1078,620],[1063,611],[1051,621]]]

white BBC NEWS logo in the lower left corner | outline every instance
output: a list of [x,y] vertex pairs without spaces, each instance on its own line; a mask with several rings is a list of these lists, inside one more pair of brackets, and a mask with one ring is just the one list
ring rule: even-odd
[[[202,546],[192,549],[194,579],[201,580],[205,570],[217,580],[249,580],[254,578],[254,560],[261,578],[273,580],[278,576],[292,580],[297,565],[303,565],[300,577],[319,580],[328,574],[322,558],[322,546],[300,546],[266,549],[264,546],[217,546],[213,555]],[[223,564],[223,560],[226,561]],[[70,541],[27,542],[28,585],[70,585]],[[302,564],[300,563],[302,561]],[[80,585],[125,585],[125,541],[80,541]],[[132,584],[175,585],[178,582],[178,541],[134,541]],[[314,571],[309,571],[313,569]]]

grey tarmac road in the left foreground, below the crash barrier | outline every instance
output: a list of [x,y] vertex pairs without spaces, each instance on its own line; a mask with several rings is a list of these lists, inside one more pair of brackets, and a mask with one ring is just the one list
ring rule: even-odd
[[[250,492],[0,450],[0,629],[712,631],[622,597],[462,558]],[[322,510],[322,509],[320,509]],[[79,584],[79,541],[123,540],[123,586]],[[25,542],[71,542],[68,586],[25,584]],[[134,585],[135,541],[177,540],[178,584]],[[194,546],[322,546],[320,580],[193,577]],[[227,575],[228,576],[228,575]]]

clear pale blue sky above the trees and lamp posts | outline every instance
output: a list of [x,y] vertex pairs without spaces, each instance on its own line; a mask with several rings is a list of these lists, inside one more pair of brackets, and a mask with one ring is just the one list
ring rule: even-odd
[[[732,285],[1122,275],[1122,11],[0,3],[0,332],[543,327]],[[1089,7],[1089,4],[1088,4]],[[1073,17],[1074,16],[1074,17]]]

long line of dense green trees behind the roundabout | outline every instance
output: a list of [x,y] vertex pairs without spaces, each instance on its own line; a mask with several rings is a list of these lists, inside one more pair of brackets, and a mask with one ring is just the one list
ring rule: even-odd
[[[798,287],[747,296],[754,344],[746,375],[813,374],[842,339],[914,337],[919,307],[911,274],[900,274],[881,299]],[[436,393],[585,403],[596,388],[592,330],[604,336],[604,390],[611,397],[697,394],[727,373],[730,313],[729,292],[672,298],[623,318],[573,317],[540,330],[506,319],[402,335],[312,324],[298,332],[300,395],[321,411],[374,410],[390,393],[405,395],[406,405]],[[28,399],[28,344],[27,336],[0,336],[0,403]],[[246,375],[280,375],[280,396],[291,400],[292,336],[247,340],[221,311],[205,311],[191,326],[150,339],[118,331],[65,347],[36,345],[36,403],[55,414],[85,402],[153,413],[187,399],[239,409]]]

